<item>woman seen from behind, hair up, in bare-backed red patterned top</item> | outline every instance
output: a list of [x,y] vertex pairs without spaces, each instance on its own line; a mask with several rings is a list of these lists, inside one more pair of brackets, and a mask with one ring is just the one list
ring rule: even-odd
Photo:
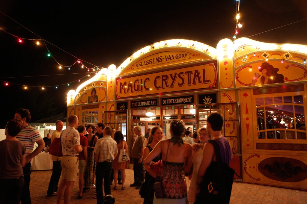
[[187,184],[185,172],[192,166],[192,145],[182,140],[185,125],[183,121],[175,119],[170,124],[171,139],[161,140],[145,158],[146,165],[153,165],[152,161],[162,154],[163,166],[161,179],[165,198],[153,198],[153,203],[187,203]]

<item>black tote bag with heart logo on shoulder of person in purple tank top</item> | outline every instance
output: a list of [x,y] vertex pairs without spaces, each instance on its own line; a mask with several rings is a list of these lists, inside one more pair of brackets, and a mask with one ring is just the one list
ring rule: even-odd
[[220,148],[216,141],[209,140],[214,147],[216,162],[211,162],[204,175],[203,181],[200,183],[200,193],[196,197],[194,204],[214,203],[228,204],[231,196],[233,176],[235,170],[221,162]]

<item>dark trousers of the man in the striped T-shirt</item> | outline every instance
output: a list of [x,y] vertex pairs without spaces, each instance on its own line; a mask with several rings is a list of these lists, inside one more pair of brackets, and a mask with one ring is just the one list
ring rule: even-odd
[[22,168],[23,170],[23,178],[25,180],[25,185],[23,186],[20,201],[21,204],[31,204],[31,196],[30,196],[30,180],[31,180],[31,170],[32,165],[31,162],[25,165]]

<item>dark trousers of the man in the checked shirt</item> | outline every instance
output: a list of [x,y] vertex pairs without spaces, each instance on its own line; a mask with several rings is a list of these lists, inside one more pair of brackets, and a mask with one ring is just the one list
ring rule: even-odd
[[113,162],[99,162],[96,166],[97,204],[103,203],[102,180],[104,180],[104,194],[111,194],[110,176]]

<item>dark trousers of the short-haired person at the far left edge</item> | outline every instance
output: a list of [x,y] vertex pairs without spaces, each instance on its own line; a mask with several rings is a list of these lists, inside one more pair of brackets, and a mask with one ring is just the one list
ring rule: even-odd
[[19,204],[24,184],[23,176],[18,179],[0,179],[0,203]]

